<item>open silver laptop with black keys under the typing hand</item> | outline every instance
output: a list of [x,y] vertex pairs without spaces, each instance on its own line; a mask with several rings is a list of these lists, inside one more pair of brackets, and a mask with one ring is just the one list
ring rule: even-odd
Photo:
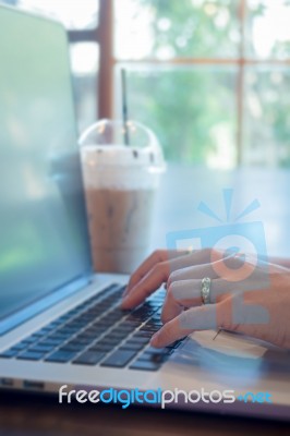
[[93,271],[63,27],[0,7],[0,62],[1,389],[289,419],[289,353],[215,331],[154,349],[165,290],[122,311],[128,277]]

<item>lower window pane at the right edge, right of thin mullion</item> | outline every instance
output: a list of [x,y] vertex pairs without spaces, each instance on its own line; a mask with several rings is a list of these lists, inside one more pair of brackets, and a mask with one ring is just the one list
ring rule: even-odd
[[245,76],[244,162],[290,166],[290,71],[249,68]]

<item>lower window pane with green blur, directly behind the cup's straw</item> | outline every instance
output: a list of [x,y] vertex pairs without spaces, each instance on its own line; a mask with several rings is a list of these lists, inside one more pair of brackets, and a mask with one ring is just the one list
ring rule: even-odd
[[[129,117],[157,133],[168,160],[235,165],[237,68],[126,65],[126,74]],[[116,108],[121,117],[119,97]]]

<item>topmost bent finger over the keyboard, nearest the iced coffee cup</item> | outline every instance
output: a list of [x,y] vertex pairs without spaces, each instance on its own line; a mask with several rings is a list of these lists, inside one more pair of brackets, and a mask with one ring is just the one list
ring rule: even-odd
[[184,254],[188,254],[188,252],[178,252],[178,251],[169,251],[169,250],[157,250],[155,251],[149,257],[147,257],[141,265],[140,267],[132,274],[128,287],[125,289],[125,292],[123,295],[125,296],[131,289],[134,288],[136,283],[140,282],[140,280],[146,276],[147,272],[154,267],[154,265],[169,261],[171,258],[182,256]]

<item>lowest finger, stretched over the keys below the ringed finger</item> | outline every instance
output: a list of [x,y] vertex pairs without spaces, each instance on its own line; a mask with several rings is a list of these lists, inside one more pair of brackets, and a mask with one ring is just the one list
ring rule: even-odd
[[167,347],[176,340],[198,330],[217,328],[237,330],[237,326],[232,325],[231,312],[231,298],[218,304],[192,307],[165,324],[152,337],[150,344],[156,348]]

